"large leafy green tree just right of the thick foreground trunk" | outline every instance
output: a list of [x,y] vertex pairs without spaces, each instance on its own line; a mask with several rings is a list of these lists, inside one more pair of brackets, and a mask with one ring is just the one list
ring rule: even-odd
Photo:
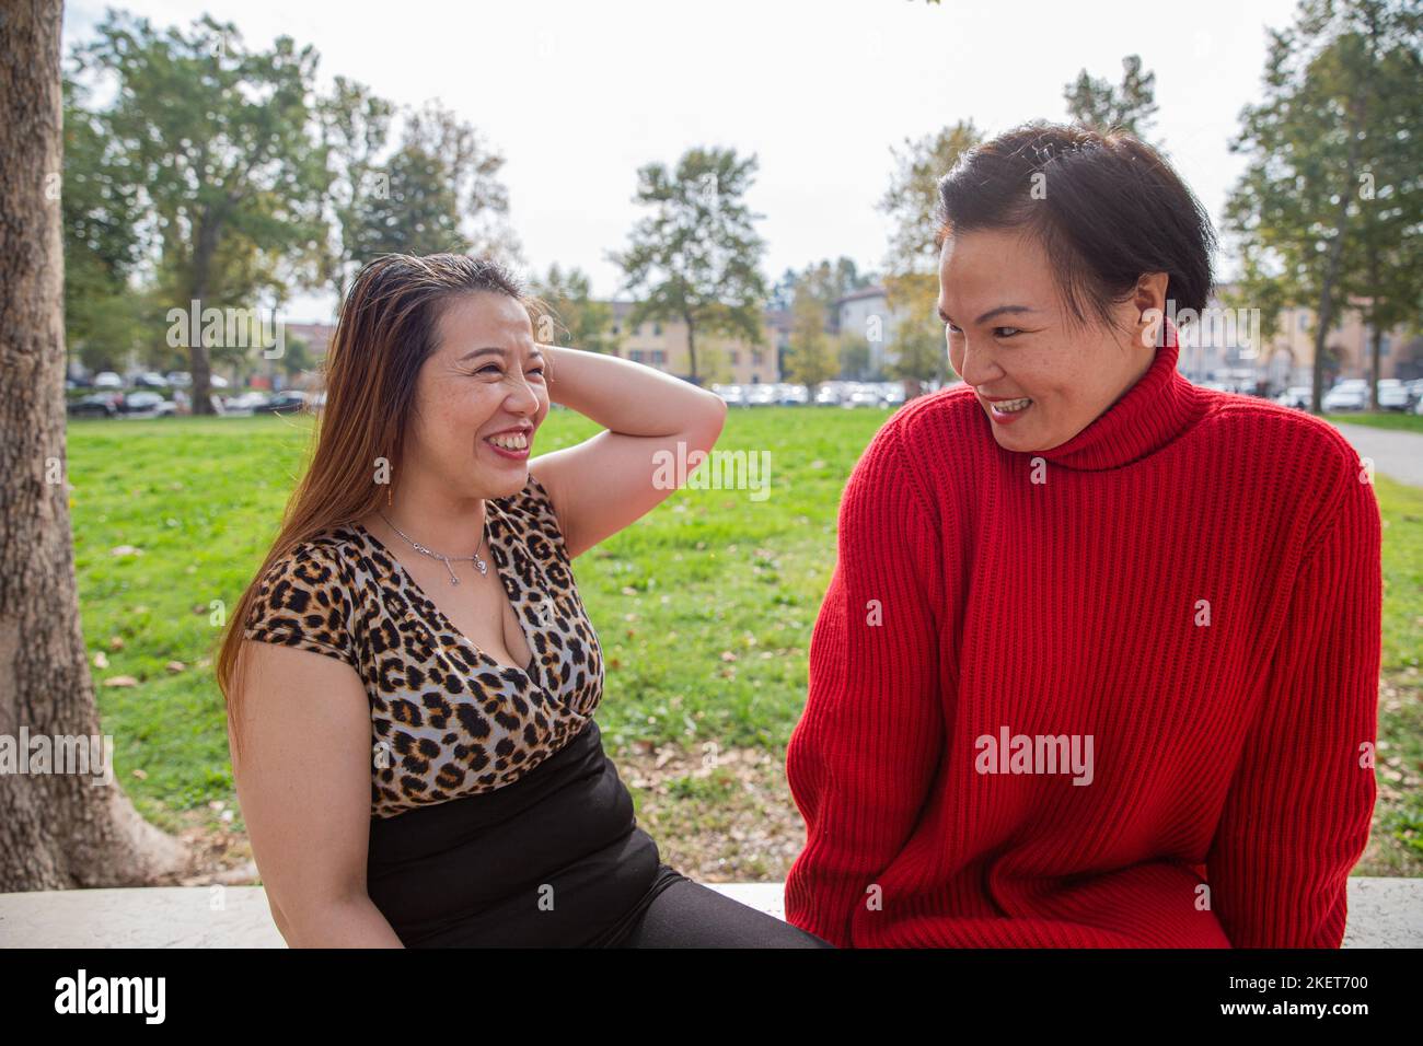
[[[252,309],[255,290],[280,290],[282,260],[323,239],[314,51],[289,37],[248,50],[206,16],[185,33],[110,11],[75,57],[117,81],[95,120],[149,202],[161,293],[181,309]],[[212,410],[205,340],[189,346],[195,413]]]

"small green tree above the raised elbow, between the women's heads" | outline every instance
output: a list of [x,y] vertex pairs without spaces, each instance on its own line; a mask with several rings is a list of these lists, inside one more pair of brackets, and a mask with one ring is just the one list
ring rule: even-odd
[[743,159],[721,148],[687,149],[673,169],[645,165],[633,201],[650,213],[633,226],[629,248],[612,255],[639,299],[630,326],[686,323],[693,381],[702,377],[699,332],[764,340],[766,242],[756,232],[760,215],[746,204],[756,168],[754,155]]

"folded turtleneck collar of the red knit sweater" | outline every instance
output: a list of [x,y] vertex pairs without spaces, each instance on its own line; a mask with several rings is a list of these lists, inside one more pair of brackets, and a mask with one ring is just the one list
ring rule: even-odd
[[1052,450],[1032,451],[1056,465],[1081,471],[1120,468],[1177,440],[1208,407],[1202,390],[1175,369],[1175,324],[1165,323],[1164,344],[1147,373],[1077,435]]

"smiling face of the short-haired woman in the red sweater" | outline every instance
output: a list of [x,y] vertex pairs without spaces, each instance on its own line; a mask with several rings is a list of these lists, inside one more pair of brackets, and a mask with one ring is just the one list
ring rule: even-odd
[[1050,450],[1116,403],[1151,366],[1153,327],[1143,312],[1161,309],[1165,282],[1165,273],[1144,276],[1133,299],[1116,306],[1123,330],[1074,326],[1036,236],[946,236],[939,316],[949,361],[978,394],[999,445]]

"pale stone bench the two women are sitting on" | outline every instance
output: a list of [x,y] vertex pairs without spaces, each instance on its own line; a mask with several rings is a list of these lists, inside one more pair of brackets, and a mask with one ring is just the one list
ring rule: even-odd
[[[780,882],[709,882],[785,918]],[[285,948],[262,887],[0,894],[0,948]],[[1423,878],[1349,879],[1345,948],[1423,946]]]

